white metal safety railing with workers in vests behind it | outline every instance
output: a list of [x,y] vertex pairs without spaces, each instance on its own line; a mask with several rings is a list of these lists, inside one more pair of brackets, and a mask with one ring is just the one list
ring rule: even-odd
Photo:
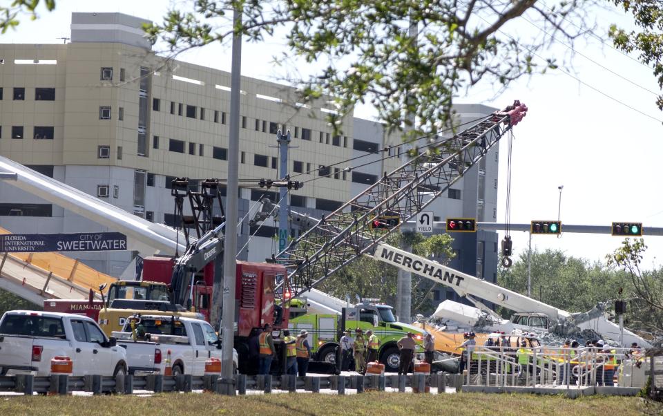
[[644,350],[631,348],[470,346],[463,353],[468,386],[640,388],[649,368]]

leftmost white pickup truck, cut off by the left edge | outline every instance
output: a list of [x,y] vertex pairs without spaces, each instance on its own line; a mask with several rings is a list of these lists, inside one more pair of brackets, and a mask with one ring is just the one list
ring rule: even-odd
[[87,316],[12,310],[0,319],[0,375],[50,375],[53,357],[69,357],[74,376],[126,374],[115,341]]

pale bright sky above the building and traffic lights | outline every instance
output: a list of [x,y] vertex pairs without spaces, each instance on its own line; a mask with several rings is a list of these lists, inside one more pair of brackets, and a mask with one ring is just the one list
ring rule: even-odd
[[[37,21],[23,18],[19,28],[0,36],[3,43],[50,44],[69,36],[71,12],[124,12],[160,21],[169,1],[58,1],[57,10],[41,12]],[[175,2],[177,4],[182,3]],[[592,15],[595,33],[601,40],[579,39],[571,75],[555,70],[546,75],[523,78],[501,95],[492,86],[480,85],[458,97],[458,102],[480,102],[503,107],[512,100],[526,103],[530,112],[516,126],[512,154],[511,221],[556,219],[559,191],[561,220],[567,224],[609,225],[612,221],[638,221],[646,227],[663,227],[663,193],[660,185],[663,156],[663,113],[655,107],[660,88],[651,69],[613,50],[606,36],[610,23],[628,26],[617,10],[597,10]],[[522,30],[537,35],[523,23]],[[540,34],[539,34],[540,35]],[[282,50],[282,32],[265,43],[244,44],[242,74],[275,80],[283,68],[271,65]],[[569,57],[571,51],[553,43],[546,56]],[[230,69],[230,49],[208,46],[180,56],[188,62]],[[303,64],[302,64],[303,65]],[[610,73],[606,68],[619,74]],[[302,73],[315,68],[301,66]],[[650,91],[645,91],[646,89]],[[652,93],[653,91],[654,93]],[[635,108],[628,108],[628,106]],[[643,115],[642,113],[646,115]],[[371,117],[372,110],[359,107],[355,115]],[[647,116],[648,115],[648,116]],[[497,220],[503,222],[506,208],[506,143],[500,149],[499,203]],[[501,238],[502,236],[500,236]],[[515,253],[527,249],[528,234],[512,232]],[[649,246],[644,266],[663,263],[663,237],[645,238]],[[590,261],[604,260],[619,246],[620,238],[606,234],[563,234],[534,236],[537,249],[561,249],[570,256]]]

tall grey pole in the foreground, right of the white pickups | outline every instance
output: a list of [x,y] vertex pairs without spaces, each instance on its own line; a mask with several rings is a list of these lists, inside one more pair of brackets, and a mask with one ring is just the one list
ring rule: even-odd
[[[233,10],[233,28],[242,25],[242,8]],[[225,250],[223,253],[223,303],[221,338],[221,379],[219,393],[235,395],[233,378],[233,343],[235,341],[235,274],[237,269],[237,205],[239,200],[239,153],[240,153],[240,81],[242,71],[242,33],[233,33],[233,53],[230,83],[230,139],[228,144],[228,182],[226,196]],[[215,278],[214,294],[217,294]],[[213,303],[212,312],[218,313],[218,303]]]

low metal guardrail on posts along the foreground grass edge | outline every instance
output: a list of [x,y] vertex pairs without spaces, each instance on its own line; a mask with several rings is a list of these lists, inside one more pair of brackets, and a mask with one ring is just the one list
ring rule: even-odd
[[[83,377],[70,377],[68,375],[51,375],[35,377],[32,375],[15,375],[0,377],[0,392],[23,393],[33,395],[67,395],[72,392],[88,392],[93,395],[101,394],[133,394],[135,390],[147,390],[154,393],[183,392],[191,393],[193,390],[204,390],[219,393],[220,383],[218,375],[205,375],[193,377],[191,375],[117,375],[115,377],[87,375]],[[249,391],[272,393],[273,390],[295,392],[305,390],[320,393],[320,389],[336,390],[339,395],[345,395],[346,389],[354,389],[357,393],[367,390],[381,390],[385,388],[398,389],[405,392],[405,388],[412,388],[415,393],[430,391],[437,388],[456,388],[460,391],[463,384],[462,375],[457,374],[415,374],[415,375],[332,375],[327,377],[297,377],[295,375],[236,375],[234,383],[238,395],[245,395]]]

